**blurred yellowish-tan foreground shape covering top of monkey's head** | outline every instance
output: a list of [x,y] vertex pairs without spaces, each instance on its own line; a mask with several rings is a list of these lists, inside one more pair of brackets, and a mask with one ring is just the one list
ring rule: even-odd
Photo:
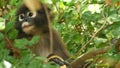
[[33,12],[41,8],[41,4],[39,0],[24,0],[24,4],[30,11],[33,11]]

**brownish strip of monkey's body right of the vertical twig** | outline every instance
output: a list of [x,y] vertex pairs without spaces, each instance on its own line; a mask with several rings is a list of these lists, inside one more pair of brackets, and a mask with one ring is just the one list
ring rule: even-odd
[[69,52],[67,51],[66,46],[64,45],[61,37],[59,34],[52,29],[53,31],[53,52],[57,54],[58,56],[62,57],[64,60],[68,59],[70,57]]

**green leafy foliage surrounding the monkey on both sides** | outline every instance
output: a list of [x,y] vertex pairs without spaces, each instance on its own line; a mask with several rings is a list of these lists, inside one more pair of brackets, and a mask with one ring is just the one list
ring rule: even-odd
[[[52,25],[61,34],[73,58],[93,49],[115,45],[114,43],[111,44],[111,40],[120,38],[120,6],[118,0],[114,0],[111,3],[112,5],[106,1],[45,1],[45,3],[50,5],[54,15]],[[4,67],[4,60],[6,60],[16,68],[56,68],[56,66],[54,67],[49,63],[40,63],[43,60],[42,57],[34,57],[30,50],[24,48],[26,44],[30,46],[35,44],[39,39],[38,37],[33,37],[31,41],[25,38],[16,39],[18,31],[14,29],[15,11],[21,3],[22,0],[0,0],[0,67]],[[22,49],[22,59],[19,60],[9,55],[10,51],[5,48],[5,37],[15,40],[14,46]],[[108,68],[111,65],[102,63],[100,60],[97,61],[98,58],[103,57],[102,60],[107,58],[111,60],[110,62],[113,60],[117,62],[120,61],[119,56],[113,46],[107,53],[92,58],[93,65],[90,65],[90,67]],[[95,64],[94,62],[96,61],[97,63]]]

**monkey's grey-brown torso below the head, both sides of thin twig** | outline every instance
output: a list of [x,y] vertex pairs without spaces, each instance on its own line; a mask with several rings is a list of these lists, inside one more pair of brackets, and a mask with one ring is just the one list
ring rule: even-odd
[[[70,54],[68,53],[63,41],[61,40],[60,36],[57,34],[57,32],[52,29],[53,34],[53,52],[54,54],[62,57],[64,60],[68,59],[70,57]],[[36,55],[41,55],[44,57],[47,57],[50,53],[50,37],[49,33],[46,32],[44,34],[40,35],[39,43],[35,46],[33,46],[33,51]]]

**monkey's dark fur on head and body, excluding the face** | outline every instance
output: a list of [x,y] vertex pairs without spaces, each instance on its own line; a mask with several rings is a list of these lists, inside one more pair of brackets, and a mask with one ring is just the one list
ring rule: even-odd
[[[23,22],[19,22],[18,16],[21,13],[28,12],[29,9],[25,7],[25,5],[22,5],[16,13],[16,23],[15,27],[19,31],[18,38],[31,38],[32,36],[36,34],[26,34],[23,32],[21,25]],[[48,11],[50,11],[48,9]],[[50,16],[51,18],[51,16]],[[36,45],[33,45],[33,48],[31,49],[36,55],[45,56],[47,57],[50,54],[50,35],[49,35],[49,28],[48,28],[48,20],[45,14],[45,9],[43,8],[43,5],[41,4],[41,8],[37,11],[37,16],[35,18],[31,18],[28,20],[28,22],[32,22],[32,24],[36,27],[36,32],[38,32],[37,35],[40,36],[39,43]],[[34,22],[34,23],[33,23]],[[60,36],[58,33],[52,28],[52,34],[53,34],[53,52],[54,54],[62,57],[63,59],[69,58],[69,53],[65,48],[65,45],[61,41]]]

